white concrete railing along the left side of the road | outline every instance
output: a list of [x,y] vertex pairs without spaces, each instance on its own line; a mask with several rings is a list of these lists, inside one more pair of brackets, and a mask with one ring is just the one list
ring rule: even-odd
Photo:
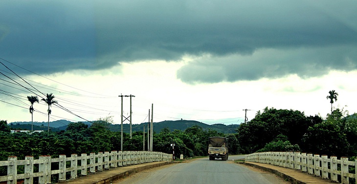
[[[8,157],[7,161],[0,161],[0,166],[7,166],[7,176],[0,176],[0,182],[17,184],[23,180],[23,184],[32,184],[33,178],[39,177],[39,184],[50,184],[51,175],[58,174],[59,181],[66,181],[66,173],[70,172],[70,179],[76,179],[77,171],[81,175],[103,171],[110,167],[142,164],[157,161],[172,161],[172,154],[151,151],[106,151],[90,155],[72,154],[71,157],[60,155],[59,158],[51,158],[49,155],[40,156],[34,160],[32,156],[26,156],[25,160],[17,160],[16,156]],[[51,164],[58,163],[57,170],[51,170]],[[80,164],[79,164],[80,163]],[[89,164],[88,164],[89,163]],[[38,172],[34,171],[34,165],[38,165]],[[24,165],[24,174],[17,173],[17,167]],[[67,165],[70,167],[67,167]]]

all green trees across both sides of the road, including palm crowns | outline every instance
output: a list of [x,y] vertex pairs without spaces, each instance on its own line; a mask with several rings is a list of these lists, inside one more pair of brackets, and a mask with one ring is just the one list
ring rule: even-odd
[[[337,98],[332,90],[327,98],[331,102]],[[30,101],[30,99],[33,99]],[[52,94],[42,99],[48,104],[56,103]],[[37,102],[36,98],[29,98]],[[33,110],[33,107],[30,107]],[[48,110],[48,116],[50,114]],[[60,132],[11,133],[6,121],[0,121],[0,160],[15,155],[24,159],[26,155],[38,158],[40,155],[58,157],[60,154],[81,154],[120,150],[121,133],[112,131],[111,117],[101,118],[88,124],[69,123],[66,130]],[[134,131],[132,138],[123,133],[123,150],[140,151],[147,148],[147,137],[142,131]],[[305,116],[298,110],[264,108],[258,111],[249,122],[242,123],[236,133],[223,134],[198,125],[185,130],[163,128],[154,132],[154,151],[172,153],[175,143],[176,156],[183,154],[185,158],[206,156],[208,138],[222,136],[228,139],[229,154],[248,154],[264,151],[298,151],[337,157],[357,156],[357,114],[349,115],[348,111],[336,108],[326,117],[319,115]],[[0,168],[0,172],[2,171]],[[3,173],[0,173],[3,174]]]

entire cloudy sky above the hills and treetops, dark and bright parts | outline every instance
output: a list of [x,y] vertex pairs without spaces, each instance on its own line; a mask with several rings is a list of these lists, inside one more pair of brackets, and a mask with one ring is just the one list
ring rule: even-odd
[[[0,120],[240,124],[357,112],[356,0],[1,0]],[[34,122],[47,105],[34,104]],[[129,118],[128,118],[129,119]],[[129,123],[128,120],[124,123]]]

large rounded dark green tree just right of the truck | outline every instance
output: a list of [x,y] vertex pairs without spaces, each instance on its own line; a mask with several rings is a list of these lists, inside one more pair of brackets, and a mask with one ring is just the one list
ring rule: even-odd
[[242,123],[238,128],[241,152],[255,152],[279,135],[287,136],[291,144],[300,145],[308,127],[316,123],[317,118],[306,117],[297,110],[266,107],[263,112],[258,111],[250,122]]

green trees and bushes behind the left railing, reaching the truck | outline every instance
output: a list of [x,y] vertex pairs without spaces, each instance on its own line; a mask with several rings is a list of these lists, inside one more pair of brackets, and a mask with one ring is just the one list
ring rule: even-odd
[[[40,155],[51,155],[58,158],[60,154],[70,157],[76,153],[98,153],[104,151],[120,150],[120,132],[111,131],[112,119],[104,118],[93,122],[91,126],[78,122],[69,123],[66,130],[59,132],[10,132],[10,126],[6,121],[0,123],[0,160],[7,160],[8,156],[17,156],[23,160],[26,155],[32,155],[38,159]],[[31,124],[29,124],[30,126]],[[46,127],[44,127],[46,128]],[[180,154],[184,158],[193,156],[206,156],[208,137],[224,136],[216,130],[203,129],[198,125],[187,128],[184,131],[163,128],[160,133],[154,132],[154,151],[172,153],[171,143],[175,143],[175,155]],[[226,135],[232,150],[238,149],[238,141],[234,134]],[[145,134],[145,149],[147,148],[147,134]],[[143,132],[134,131],[132,139],[128,133],[123,133],[124,150],[143,150]],[[231,151],[234,154],[234,151]],[[237,153],[237,152],[235,152]],[[0,175],[6,175],[6,168],[0,168]]]

